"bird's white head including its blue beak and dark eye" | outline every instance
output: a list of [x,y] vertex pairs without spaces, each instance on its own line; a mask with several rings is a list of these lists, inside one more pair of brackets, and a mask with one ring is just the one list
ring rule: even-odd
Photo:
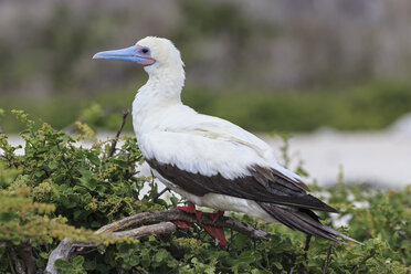
[[98,52],[93,59],[135,62],[144,65],[150,77],[182,74],[183,81],[185,64],[181,61],[180,52],[170,40],[165,38],[147,36],[129,48]]

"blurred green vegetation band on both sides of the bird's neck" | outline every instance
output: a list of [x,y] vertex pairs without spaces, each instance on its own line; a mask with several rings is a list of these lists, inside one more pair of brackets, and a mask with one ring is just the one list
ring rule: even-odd
[[[4,102],[10,103],[4,109],[22,107],[60,129],[80,119],[95,128],[115,130],[122,110],[130,108],[136,89],[143,84],[107,89],[82,102],[66,95],[41,101],[4,97]],[[322,126],[341,130],[381,129],[408,113],[411,104],[409,84],[382,81],[334,92],[328,88],[303,93],[250,91],[239,88],[217,93],[215,89],[188,85],[182,99],[200,113],[229,119],[252,131],[274,128],[278,131],[309,131]],[[22,125],[11,118],[1,126],[8,133],[22,129]],[[126,130],[133,130],[130,123]]]

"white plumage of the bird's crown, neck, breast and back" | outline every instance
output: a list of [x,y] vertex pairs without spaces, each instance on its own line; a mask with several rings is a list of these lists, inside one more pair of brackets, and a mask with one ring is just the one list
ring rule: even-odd
[[[172,55],[180,55],[168,40],[146,38],[138,44],[149,46],[159,41],[169,44]],[[133,125],[146,158],[173,162],[182,170],[204,176],[221,173],[226,179],[250,175],[246,169],[254,164],[298,178],[282,168],[272,147],[255,135],[183,105],[180,99],[185,81],[181,61],[169,62],[158,70],[152,67],[155,65],[145,67],[149,80],[138,89],[133,103]]]

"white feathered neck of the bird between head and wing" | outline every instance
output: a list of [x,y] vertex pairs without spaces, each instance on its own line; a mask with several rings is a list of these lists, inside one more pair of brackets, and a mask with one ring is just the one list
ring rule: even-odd
[[[173,105],[181,105],[181,89],[185,85],[185,70],[175,67],[145,67],[149,74],[133,102],[133,126],[136,135],[145,125],[154,123],[151,117]],[[151,71],[152,70],[152,71]],[[155,126],[155,125],[151,125]]]

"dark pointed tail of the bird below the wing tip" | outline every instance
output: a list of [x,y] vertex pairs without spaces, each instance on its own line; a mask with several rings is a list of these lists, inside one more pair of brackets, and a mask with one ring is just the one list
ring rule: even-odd
[[273,203],[259,202],[266,212],[275,220],[293,230],[299,230],[306,234],[319,236],[335,242],[340,242],[337,238],[360,243],[331,228],[322,224],[316,213],[308,209],[295,209]]

